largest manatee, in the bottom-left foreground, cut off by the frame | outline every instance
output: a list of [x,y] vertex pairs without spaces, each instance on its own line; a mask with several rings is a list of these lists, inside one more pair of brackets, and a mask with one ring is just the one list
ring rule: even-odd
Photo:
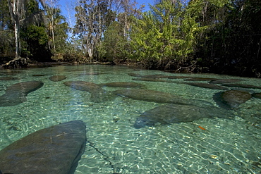
[[37,130],[0,151],[0,173],[73,174],[85,144],[80,120]]

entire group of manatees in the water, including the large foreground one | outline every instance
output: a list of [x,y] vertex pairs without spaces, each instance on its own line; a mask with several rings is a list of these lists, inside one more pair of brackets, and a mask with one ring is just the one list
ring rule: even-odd
[[[192,122],[200,118],[233,118],[232,110],[240,104],[256,97],[261,99],[261,93],[250,94],[243,88],[261,89],[253,85],[243,85],[238,79],[213,79],[186,76],[168,75],[140,75],[129,73],[136,77],[133,80],[153,82],[169,82],[168,79],[184,79],[177,82],[184,85],[219,89],[213,99],[218,106],[207,101],[184,99],[175,94],[159,92],[145,88],[145,85],[136,82],[109,82],[95,84],[85,81],[66,81],[64,85],[76,90],[90,93],[92,102],[102,102],[115,97],[126,97],[139,101],[155,102],[159,105],[136,118],[134,128],[154,126],[155,124],[169,124]],[[36,75],[35,75],[36,76]],[[1,79],[0,79],[1,80]],[[7,80],[7,79],[3,79]],[[66,80],[64,75],[49,77],[53,82]],[[189,82],[192,81],[192,82]],[[193,81],[209,81],[200,83]],[[15,106],[26,101],[26,96],[44,84],[40,81],[19,82],[6,88],[5,94],[0,97],[0,107]],[[121,87],[121,89],[108,92],[103,87]],[[240,89],[229,89],[238,87]],[[73,120],[49,128],[38,130],[19,139],[0,151],[0,174],[16,173],[74,173],[86,144],[85,123]]]

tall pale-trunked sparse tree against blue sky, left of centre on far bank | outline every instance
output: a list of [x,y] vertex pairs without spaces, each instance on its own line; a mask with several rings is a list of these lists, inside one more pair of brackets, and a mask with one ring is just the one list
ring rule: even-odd
[[101,0],[80,1],[75,8],[74,33],[83,39],[83,48],[90,59],[98,57],[97,48],[104,31],[115,19],[114,13],[108,8],[110,3]]

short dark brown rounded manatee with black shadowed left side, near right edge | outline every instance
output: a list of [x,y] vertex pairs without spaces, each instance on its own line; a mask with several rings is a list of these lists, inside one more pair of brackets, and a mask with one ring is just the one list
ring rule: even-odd
[[229,90],[225,92],[217,92],[214,94],[214,101],[226,109],[237,108],[240,104],[251,99],[251,94],[245,91]]

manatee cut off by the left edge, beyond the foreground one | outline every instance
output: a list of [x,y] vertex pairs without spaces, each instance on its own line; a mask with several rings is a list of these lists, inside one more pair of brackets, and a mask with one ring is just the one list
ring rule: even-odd
[[26,96],[44,83],[38,81],[19,82],[6,89],[6,93],[0,96],[0,106],[15,106],[26,101]]

